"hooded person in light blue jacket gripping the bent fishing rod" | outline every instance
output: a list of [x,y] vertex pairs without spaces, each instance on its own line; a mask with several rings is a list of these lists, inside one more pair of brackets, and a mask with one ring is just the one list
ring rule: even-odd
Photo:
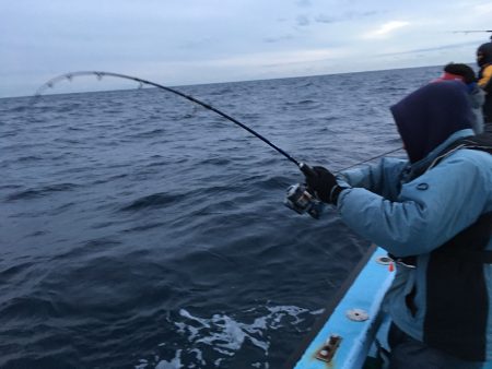
[[470,129],[466,86],[427,84],[391,107],[409,159],[308,188],[396,262],[385,299],[390,368],[481,368],[492,359],[492,142]]

